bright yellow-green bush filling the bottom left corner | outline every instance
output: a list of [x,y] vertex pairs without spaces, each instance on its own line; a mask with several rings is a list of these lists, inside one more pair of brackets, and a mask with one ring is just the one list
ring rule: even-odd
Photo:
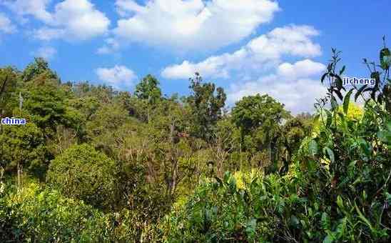
[[110,220],[102,212],[31,183],[0,195],[0,242],[107,242]]

